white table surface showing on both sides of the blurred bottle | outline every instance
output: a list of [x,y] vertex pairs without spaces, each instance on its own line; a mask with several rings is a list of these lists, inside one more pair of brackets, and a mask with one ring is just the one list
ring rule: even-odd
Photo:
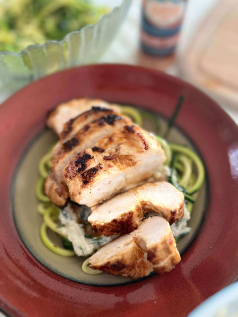
[[[217,0],[188,1],[185,20],[183,22],[183,28],[179,41],[179,55],[185,52],[193,32],[197,29],[199,23],[216,2]],[[133,0],[128,15],[121,29],[119,30],[117,37],[115,38],[107,53],[105,53],[102,57],[101,62],[136,64],[135,56],[138,51],[139,25],[140,0]],[[171,72],[174,75],[179,76],[176,73],[176,69],[173,69]],[[226,110],[226,112],[238,124],[238,110],[229,108],[226,105],[220,106],[222,106],[224,110]],[[0,313],[0,317],[5,317],[5,315]]]

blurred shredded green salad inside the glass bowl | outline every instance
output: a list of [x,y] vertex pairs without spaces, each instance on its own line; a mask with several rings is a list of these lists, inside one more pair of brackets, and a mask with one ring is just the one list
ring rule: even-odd
[[92,0],[0,0],[0,51],[60,41],[107,12]]

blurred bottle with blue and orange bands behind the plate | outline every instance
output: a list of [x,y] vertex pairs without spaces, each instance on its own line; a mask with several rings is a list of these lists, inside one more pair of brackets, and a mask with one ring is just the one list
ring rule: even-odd
[[140,45],[144,53],[175,52],[184,15],[183,0],[142,0]]

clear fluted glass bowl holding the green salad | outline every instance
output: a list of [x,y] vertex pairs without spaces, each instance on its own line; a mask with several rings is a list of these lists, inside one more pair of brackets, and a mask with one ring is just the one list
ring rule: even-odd
[[[0,52],[0,101],[40,77],[65,68],[95,63],[114,39],[131,0],[119,2],[94,25],[67,34],[61,41],[30,45],[22,52]],[[101,2],[100,2],[101,3]]]

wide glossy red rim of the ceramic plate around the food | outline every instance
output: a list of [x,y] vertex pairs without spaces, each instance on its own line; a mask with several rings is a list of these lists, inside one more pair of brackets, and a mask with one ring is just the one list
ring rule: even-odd
[[[208,203],[196,239],[170,273],[121,286],[90,286],[41,264],[20,239],[12,216],[13,173],[47,112],[80,96],[137,105],[170,117],[198,149]],[[186,316],[238,277],[238,128],[211,99],[164,73],[125,65],[65,70],[22,89],[0,106],[0,305],[13,316]],[[29,170],[29,177],[31,171]],[[27,208],[27,206],[26,206]],[[34,225],[34,224],[32,224]]]

